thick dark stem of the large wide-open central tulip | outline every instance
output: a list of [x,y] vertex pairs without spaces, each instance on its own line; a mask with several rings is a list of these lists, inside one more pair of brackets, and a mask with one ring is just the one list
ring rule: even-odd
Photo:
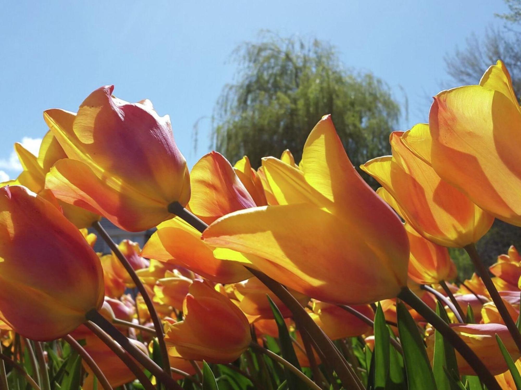
[[485,383],[488,390],[500,390],[501,387],[494,379],[488,368],[476,356],[474,351],[465,344],[465,342],[449,327],[443,319],[441,319],[427,304],[416,296],[410,289],[404,287],[398,298],[415,309],[420,316],[425,318],[436,330],[438,330],[446,340],[460,353],[460,355],[468,362],[470,367],[479,376],[481,381]]

